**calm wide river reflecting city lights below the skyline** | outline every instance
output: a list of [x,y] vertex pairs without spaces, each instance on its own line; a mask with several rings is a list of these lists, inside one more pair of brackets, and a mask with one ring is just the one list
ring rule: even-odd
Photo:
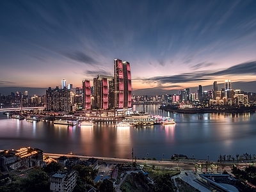
[[[0,149],[40,148],[48,153],[74,152],[95,157],[170,158],[185,154],[196,159],[216,161],[218,156],[256,154],[256,115],[173,114],[145,106],[154,115],[170,116],[175,125],[115,127],[115,122],[100,122],[93,127],[68,127],[49,122],[27,122],[0,115]],[[143,111],[143,106],[134,109]]]

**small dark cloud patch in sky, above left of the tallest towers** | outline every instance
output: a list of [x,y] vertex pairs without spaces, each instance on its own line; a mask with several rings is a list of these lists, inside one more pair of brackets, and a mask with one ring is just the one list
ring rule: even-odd
[[62,55],[70,58],[71,60],[75,60],[81,63],[86,63],[90,65],[98,64],[98,62],[94,60],[91,56],[81,51],[63,52]]

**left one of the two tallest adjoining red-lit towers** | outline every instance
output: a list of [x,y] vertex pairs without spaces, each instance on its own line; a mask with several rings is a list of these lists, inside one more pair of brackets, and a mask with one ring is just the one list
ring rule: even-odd
[[124,108],[124,68],[122,60],[114,60],[115,109]]

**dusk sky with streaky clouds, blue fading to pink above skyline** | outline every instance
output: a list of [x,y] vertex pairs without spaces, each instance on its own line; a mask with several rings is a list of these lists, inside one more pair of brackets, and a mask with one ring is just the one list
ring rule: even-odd
[[43,95],[131,64],[132,93],[256,92],[256,1],[0,1],[0,93]]

